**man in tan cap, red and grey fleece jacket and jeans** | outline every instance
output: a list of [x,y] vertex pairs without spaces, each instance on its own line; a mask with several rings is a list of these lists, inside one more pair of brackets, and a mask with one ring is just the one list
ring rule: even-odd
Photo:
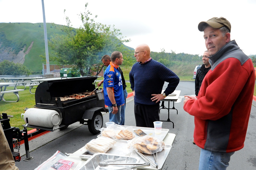
[[226,169],[231,155],[244,146],[254,67],[236,41],[230,40],[231,24],[226,18],[200,22],[198,30],[204,32],[211,69],[198,96],[184,96],[183,108],[195,117],[194,142],[201,148],[199,170]]

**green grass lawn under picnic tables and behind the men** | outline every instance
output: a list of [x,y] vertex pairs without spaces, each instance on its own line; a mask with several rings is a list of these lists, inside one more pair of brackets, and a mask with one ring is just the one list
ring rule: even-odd
[[[179,76],[180,81],[195,81],[191,80],[192,76]],[[129,76],[126,76],[126,80],[129,80]],[[100,77],[99,79],[103,79]],[[132,89],[130,88],[131,84],[126,82],[127,92],[131,93]],[[102,86],[101,86],[102,87]],[[12,87],[8,87],[8,89],[12,89]],[[24,89],[24,86],[18,86],[17,89]],[[32,88],[31,92],[35,92],[36,88]],[[254,87],[254,95],[256,96],[256,87]],[[17,97],[13,93],[6,93],[4,95],[5,100],[17,100]],[[29,87],[24,91],[19,92],[20,100],[18,102],[4,102],[0,101],[0,113],[7,113],[7,115],[13,115],[14,117],[10,118],[10,125],[13,127],[18,127],[20,130],[23,129],[25,121],[21,118],[21,114],[24,113],[24,109],[26,107],[31,108],[35,105],[35,94],[29,93]],[[28,128],[31,130],[31,128]]]

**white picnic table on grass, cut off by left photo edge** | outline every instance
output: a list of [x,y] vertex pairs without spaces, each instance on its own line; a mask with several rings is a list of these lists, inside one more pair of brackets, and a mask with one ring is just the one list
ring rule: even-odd
[[[10,85],[13,85],[14,89],[13,90],[6,90],[6,88]],[[4,90],[3,90],[4,87]],[[24,89],[17,89],[17,83],[16,82],[0,82],[0,101],[4,101],[4,102],[18,102],[19,101],[19,91],[24,91]],[[9,100],[5,100],[4,99],[4,94],[5,93],[14,93],[17,96],[17,100],[16,101],[9,101]]]

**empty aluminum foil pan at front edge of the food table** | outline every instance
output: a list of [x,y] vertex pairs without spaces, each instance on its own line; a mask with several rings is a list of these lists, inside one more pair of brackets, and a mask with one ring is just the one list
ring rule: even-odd
[[[131,167],[133,165],[109,165],[106,167],[100,167],[100,163],[139,163],[139,157],[114,155],[108,153],[95,153],[90,159],[88,159],[81,167],[80,170],[98,170],[98,169],[121,169],[121,167]],[[135,169],[134,169],[135,170]]]

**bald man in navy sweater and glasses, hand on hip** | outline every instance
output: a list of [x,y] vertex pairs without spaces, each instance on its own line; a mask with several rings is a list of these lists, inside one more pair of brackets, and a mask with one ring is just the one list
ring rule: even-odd
[[[176,89],[179,77],[150,57],[150,48],[147,44],[138,45],[134,57],[137,63],[132,66],[129,78],[134,96],[136,126],[154,127],[153,122],[160,119],[160,100]],[[165,81],[169,84],[162,93]]]

